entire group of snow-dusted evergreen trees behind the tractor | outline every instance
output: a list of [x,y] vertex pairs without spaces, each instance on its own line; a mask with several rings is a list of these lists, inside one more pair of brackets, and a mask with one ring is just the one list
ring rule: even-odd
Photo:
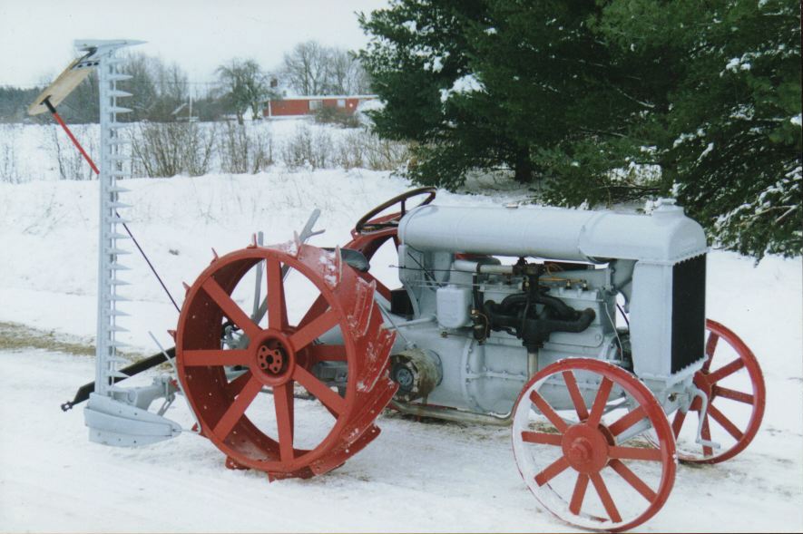
[[359,22],[377,132],[415,141],[414,180],[671,196],[726,248],[801,253],[796,0],[397,0]]

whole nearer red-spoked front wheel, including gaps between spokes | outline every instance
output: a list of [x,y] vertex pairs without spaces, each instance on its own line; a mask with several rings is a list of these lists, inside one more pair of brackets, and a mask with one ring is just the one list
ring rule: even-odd
[[[514,408],[513,450],[546,510],[583,527],[620,531],[650,519],[675,480],[675,441],[661,405],[632,374],[569,358],[528,382]],[[654,431],[660,448],[641,437]]]

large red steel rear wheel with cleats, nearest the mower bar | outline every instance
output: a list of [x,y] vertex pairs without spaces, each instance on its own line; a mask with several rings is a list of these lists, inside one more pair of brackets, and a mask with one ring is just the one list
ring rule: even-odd
[[[264,327],[233,296],[259,264],[267,280]],[[297,271],[319,293],[298,325],[289,320],[282,267]],[[298,243],[238,250],[201,273],[181,308],[176,360],[201,432],[226,454],[227,465],[266,471],[271,478],[307,478],[342,465],[377,436],[373,422],[397,386],[387,376],[394,335],[381,329],[375,290],[338,250]],[[226,324],[242,335],[234,347],[221,341]],[[322,335],[342,341],[321,344]],[[319,362],[347,364],[344,394],[314,374]],[[229,380],[226,368],[232,365],[246,370]],[[296,399],[296,384],[315,400]],[[259,394],[268,390],[271,395]]]

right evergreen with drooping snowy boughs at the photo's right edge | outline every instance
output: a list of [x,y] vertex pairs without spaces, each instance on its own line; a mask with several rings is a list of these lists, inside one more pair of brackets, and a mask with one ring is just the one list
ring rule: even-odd
[[651,93],[668,106],[651,144],[664,185],[721,245],[799,255],[797,2],[615,0],[600,20],[623,60],[661,65]]

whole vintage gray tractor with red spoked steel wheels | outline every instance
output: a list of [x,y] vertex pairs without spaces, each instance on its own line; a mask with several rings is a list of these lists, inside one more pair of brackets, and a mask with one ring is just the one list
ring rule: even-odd
[[[547,510],[620,530],[661,509],[679,458],[723,461],[752,440],[759,364],[706,320],[706,240],[681,208],[455,208],[434,197],[388,201],[340,248],[255,242],[189,286],[178,375],[227,465],[323,474],[377,436],[388,406],[512,423],[515,461]],[[385,243],[399,288],[371,274]],[[234,296],[242,285],[252,295],[254,281],[249,313]],[[305,390],[326,419],[294,408]]]

